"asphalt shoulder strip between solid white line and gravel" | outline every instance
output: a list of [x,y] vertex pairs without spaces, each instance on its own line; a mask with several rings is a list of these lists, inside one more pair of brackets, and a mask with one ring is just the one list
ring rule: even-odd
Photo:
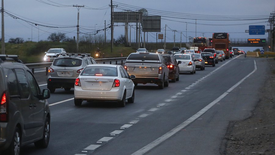
[[259,90],[266,79],[262,76],[266,74],[266,62],[260,59],[256,62],[255,73],[199,119],[146,154],[224,154],[229,122],[248,118],[259,101]]

